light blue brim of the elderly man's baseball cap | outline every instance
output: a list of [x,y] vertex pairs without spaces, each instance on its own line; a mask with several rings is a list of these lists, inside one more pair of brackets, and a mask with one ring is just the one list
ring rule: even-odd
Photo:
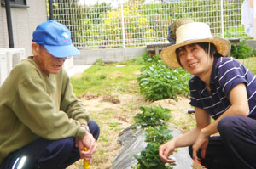
[[64,46],[44,45],[44,48],[47,49],[49,54],[53,55],[56,58],[67,58],[70,56],[76,56],[80,54],[79,49],[75,48],[73,44]]

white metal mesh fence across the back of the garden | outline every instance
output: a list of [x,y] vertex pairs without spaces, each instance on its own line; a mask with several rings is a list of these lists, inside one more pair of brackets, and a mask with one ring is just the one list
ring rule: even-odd
[[78,48],[122,48],[166,42],[168,25],[179,18],[206,22],[217,37],[247,37],[241,25],[243,0],[53,2],[54,20],[67,25]]

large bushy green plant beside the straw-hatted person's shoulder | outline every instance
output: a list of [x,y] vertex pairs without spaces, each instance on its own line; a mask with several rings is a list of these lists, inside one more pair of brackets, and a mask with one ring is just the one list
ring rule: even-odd
[[189,95],[189,73],[183,69],[168,68],[158,55],[154,58],[143,56],[143,59],[148,60],[141,70],[142,74],[137,77],[137,82],[146,100],[175,99],[177,94]]

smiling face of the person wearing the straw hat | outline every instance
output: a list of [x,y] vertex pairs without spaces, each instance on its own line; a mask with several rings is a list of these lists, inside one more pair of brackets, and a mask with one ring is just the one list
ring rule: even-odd
[[211,75],[213,57],[198,44],[189,44],[181,48],[177,48],[177,57],[180,60],[184,70],[191,75],[203,77]]

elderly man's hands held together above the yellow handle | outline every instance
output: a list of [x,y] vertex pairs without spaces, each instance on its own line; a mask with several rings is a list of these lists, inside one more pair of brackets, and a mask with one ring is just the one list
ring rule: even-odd
[[[76,138],[76,145],[78,146],[81,159],[91,161],[92,156],[96,152],[96,140],[90,132],[86,132],[83,139]],[[87,151],[84,151],[84,147]]]

